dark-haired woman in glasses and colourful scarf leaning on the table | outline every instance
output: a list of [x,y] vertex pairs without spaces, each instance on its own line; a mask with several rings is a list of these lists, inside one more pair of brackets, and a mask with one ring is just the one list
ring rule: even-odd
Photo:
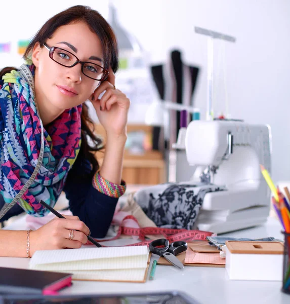
[[[1,220],[23,210],[44,216],[47,210],[38,202],[54,206],[62,191],[73,213],[31,232],[0,230],[0,255],[79,248],[90,233],[106,235],[126,187],[121,170],[130,101],[114,86],[117,55],[106,20],[89,7],[74,6],[36,33],[25,65],[0,72]],[[101,141],[92,132],[88,99],[106,130],[100,170],[93,153]]]

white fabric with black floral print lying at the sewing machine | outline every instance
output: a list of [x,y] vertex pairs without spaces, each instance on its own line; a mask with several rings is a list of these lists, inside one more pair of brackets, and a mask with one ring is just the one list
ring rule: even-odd
[[205,194],[225,189],[213,184],[164,183],[137,191],[134,200],[158,227],[191,230]]

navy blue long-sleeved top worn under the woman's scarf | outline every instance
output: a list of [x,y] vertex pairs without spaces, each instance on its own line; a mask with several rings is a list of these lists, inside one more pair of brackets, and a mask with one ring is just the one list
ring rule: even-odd
[[[103,238],[108,232],[118,199],[109,197],[93,187],[92,178],[89,176],[91,171],[91,163],[81,155],[80,149],[68,173],[63,191],[73,215],[77,215],[86,223],[92,237]],[[0,210],[4,203],[0,195]],[[0,221],[5,221],[22,212],[23,209],[16,204]]]

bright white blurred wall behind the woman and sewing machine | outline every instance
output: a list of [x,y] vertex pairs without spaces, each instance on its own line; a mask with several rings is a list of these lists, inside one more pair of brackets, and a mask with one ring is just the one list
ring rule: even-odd
[[[2,8],[1,40],[29,39],[52,15],[80,1],[26,1]],[[178,48],[184,62],[201,68],[194,105],[205,116],[206,37],[194,26],[233,35],[235,44],[217,42],[215,50],[215,111],[225,111],[221,50],[225,50],[226,92],[232,118],[272,128],[272,176],[290,179],[290,1],[289,0],[114,0],[120,23],[135,34],[162,63]],[[108,0],[81,1],[108,15]],[[11,12],[11,13],[7,13]],[[32,17],[31,17],[32,16]],[[7,30],[6,30],[7,28]],[[20,62],[20,58],[17,60]],[[0,66],[18,65],[16,57],[0,54]]]

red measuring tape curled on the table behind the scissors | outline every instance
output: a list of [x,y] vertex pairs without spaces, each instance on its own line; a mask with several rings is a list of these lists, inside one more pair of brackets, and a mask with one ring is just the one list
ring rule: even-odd
[[[210,237],[213,235],[212,232],[200,231],[200,230],[170,229],[170,228],[160,228],[160,227],[143,227],[143,228],[126,227],[122,225],[126,219],[132,219],[138,224],[137,219],[133,215],[127,215],[121,221],[117,235],[115,237],[106,240],[98,240],[98,239],[95,240],[97,242],[113,241],[118,239],[122,234],[126,236],[137,236],[141,240],[141,242],[139,243],[125,245],[125,246],[143,246],[143,245],[148,246],[149,243],[152,242],[152,240],[147,241],[145,239],[147,235],[162,235],[170,243],[173,243],[175,241],[187,241],[187,242],[194,240],[205,241],[206,237]],[[91,242],[88,241],[87,244],[91,244]]]

